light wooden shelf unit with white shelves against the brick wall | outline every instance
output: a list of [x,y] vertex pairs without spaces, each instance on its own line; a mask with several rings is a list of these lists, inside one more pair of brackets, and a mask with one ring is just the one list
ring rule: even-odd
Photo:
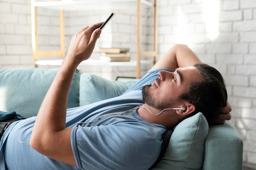
[[[60,13],[60,50],[58,51],[38,51],[38,35],[37,35],[37,17],[36,10],[38,7],[44,7],[48,9],[59,10]],[[38,60],[39,56],[61,56],[65,57],[65,31],[64,31],[64,10],[68,11],[79,11],[86,9],[106,9],[111,7],[111,9],[127,9],[137,7],[137,59],[136,62],[109,62],[107,65],[112,66],[136,66],[136,78],[140,78],[140,66],[141,64],[146,65],[152,62],[141,61],[141,56],[153,57],[153,64],[156,63],[157,57],[157,0],[149,2],[147,0],[54,0],[54,1],[36,1],[31,0],[31,36],[32,36],[32,50],[34,56],[35,67],[37,65],[60,65],[59,60]],[[153,8],[153,51],[141,51],[140,44],[140,34],[141,34],[141,8]],[[83,62],[81,65],[99,63],[98,65],[103,65],[102,62]],[[126,65],[124,65],[126,63]]]

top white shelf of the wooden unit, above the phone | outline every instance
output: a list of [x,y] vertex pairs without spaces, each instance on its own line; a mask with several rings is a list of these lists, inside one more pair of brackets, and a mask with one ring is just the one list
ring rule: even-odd
[[[90,10],[90,9],[127,9],[137,7],[137,0],[73,0],[73,1],[37,1],[31,2],[34,7],[45,7],[55,10]],[[141,0],[141,8],[154,7],[154,4]]]

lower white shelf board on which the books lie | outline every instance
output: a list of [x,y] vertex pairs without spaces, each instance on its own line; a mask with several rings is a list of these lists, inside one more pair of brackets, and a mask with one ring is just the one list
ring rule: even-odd
[[[36,65],[61,65],[62,60],[37,60],[35,61]],[[152,60],[141,60],[141,65],[150,65],[152,64]],[[136,61],[120,61],[120,62],[106,62],[101,60],[85,60],[80,63],[80,65],[88,65],[88,66],[136,66]]]

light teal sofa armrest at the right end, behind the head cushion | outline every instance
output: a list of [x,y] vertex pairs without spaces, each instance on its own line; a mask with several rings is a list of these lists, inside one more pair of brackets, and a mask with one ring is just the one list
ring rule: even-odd
[[204,147],[203,170],[242,170],[243,140],[231,121],[210,126]]

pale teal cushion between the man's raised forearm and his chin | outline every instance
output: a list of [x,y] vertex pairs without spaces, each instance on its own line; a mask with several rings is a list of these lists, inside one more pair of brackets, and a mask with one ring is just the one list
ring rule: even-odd
[[132,81],[111,81],[93,74],[82,74],[80,78],[80,105],[113,98],[123,94],[133,85]]

